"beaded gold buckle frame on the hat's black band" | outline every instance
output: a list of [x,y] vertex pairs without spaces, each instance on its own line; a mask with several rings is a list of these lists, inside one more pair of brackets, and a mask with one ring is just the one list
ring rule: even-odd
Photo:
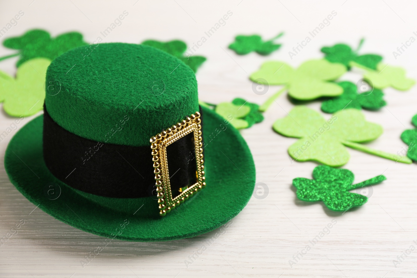
[[[168,172],[168,158],[166,155],[166,148],[186,136],[189,133],[194,133],[194,147],[196,152],[196,180],[193,185],[181,190],[181,194],[173,198],[171,192],[171,185]],[[153,173],[155,174],[156,192],[159,204],[159,215],[165,216],[171,209],[184,203],[194,193],[200,191],[206,186],[204,177],[204,160],[203,160],[203,144],[201,135],[201,118],[197,111],[185,120],[176,123],[171,128],[163,130],[150,140],[152,149]]]

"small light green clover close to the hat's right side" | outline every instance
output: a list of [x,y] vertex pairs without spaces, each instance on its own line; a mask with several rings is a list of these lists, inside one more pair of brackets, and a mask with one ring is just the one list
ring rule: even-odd
[[219,103],[216,105],[216,113],[221,115],[237,129],[249,127],[249,123],[243,118],[251,112],[251,108],[246,105],[234,105],[233,103]]

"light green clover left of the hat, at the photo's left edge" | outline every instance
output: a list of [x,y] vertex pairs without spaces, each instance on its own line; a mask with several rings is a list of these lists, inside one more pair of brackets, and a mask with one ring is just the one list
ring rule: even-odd
[[35,58],[23,63],[13,78],[0,72],[0,101],[9,115],[29,116],[43,109],[46,69],[50,60]]

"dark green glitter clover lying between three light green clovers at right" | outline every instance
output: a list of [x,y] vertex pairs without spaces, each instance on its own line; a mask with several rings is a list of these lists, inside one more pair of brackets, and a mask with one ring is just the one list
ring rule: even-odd
[[356,108],[378,110],[387,103],[382,99],[384,93],[379,89],[358,93],[356,85],[349,81],[337,83],[343,88],[343,94],[336,98],[322,102],[322,110],[326,113],[334,113],[344,108]]

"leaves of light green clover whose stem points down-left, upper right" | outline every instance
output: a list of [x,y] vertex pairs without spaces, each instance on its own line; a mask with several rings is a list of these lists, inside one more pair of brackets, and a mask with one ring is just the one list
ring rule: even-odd
[[288,94],[298,100],[313,100],[322,96],[334,97],[343,88],[328,81],[336,80],[346,72],[343,65],[327,60],[309,60],[294,70],[284,62],[270,61],[252,73],[254,82],[264,79],[269,85],[286,85]]

